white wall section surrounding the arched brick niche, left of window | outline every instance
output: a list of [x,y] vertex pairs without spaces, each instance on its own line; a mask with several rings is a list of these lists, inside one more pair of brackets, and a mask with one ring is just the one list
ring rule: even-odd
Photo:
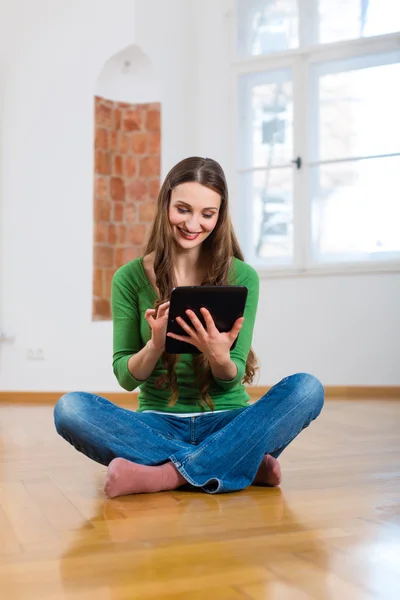
[[190,151],[186,19],[184,0],[1,4],[0,328],[15,342],[0,345],[0,389],[119,389],[111,324],[91,321],[93,96],[106,61],[139,44],[164,90],[163,165]]

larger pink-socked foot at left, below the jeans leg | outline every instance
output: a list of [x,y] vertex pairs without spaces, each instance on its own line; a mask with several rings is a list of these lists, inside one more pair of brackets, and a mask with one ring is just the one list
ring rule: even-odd
[[175,490],[187,483],[172,462],[158,467],[114,458],[108,465],[104,492],[108,498]]

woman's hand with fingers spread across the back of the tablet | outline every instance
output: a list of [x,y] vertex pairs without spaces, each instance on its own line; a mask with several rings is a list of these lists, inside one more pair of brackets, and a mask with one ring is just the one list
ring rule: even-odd
[[206,308],[201,309],[206,327],[204,328],[196,314],[187,310],[186,314],[191,320],[191,327],[181,317],[177,317],[177,323],[187,333],[187,336],[168,333],[168,337],[181,342],[188,342],[202,352],[206,358],[213,363],[225,364],[230,360],[230,348],[239,335],[244,318],[237,319],[232,329],[226,333],[221,333],[215,326],[214,319]]

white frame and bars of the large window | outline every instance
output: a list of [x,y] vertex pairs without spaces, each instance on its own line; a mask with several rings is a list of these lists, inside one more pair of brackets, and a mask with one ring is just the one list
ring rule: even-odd
[[[348,260],[345,257],[336,262],[316,262],[312,257],[312,231],[311,231],[311,165],[312,152],[310,140],[312,128],[312,68],[314,65],[349,60],[353,58],[386,54],[400,51],[400,32],[385,35],[351,39],[327,44],[305,45],[305,40],[310,39],[315,27],[315,19],[307,21],[307,11],[316,6],[317,0],[299,1],[299,46],[293,50],[286,50],[266,55],[249,56],[243,58],[237,54],[237,10],[236,1],[229,0],[230,6],[230,64],[232,90],[232,123],[233,123],[233,163],[234,179],[231,182],[232,197],[239,198],[239,177],[241,172],[251,172],[251,168],[241,168],[238,161],[238,148],[242,133],[239,128],[240,92],[239,80],[243,75],[262,73],[276,69],[291,69],[293,74],[293,159],[302,158],[302,168],[293,167],[293,261],[285,264],[284,261],[268,264],[260,261],[254,264],[260,275],[268,277],[310,276],[352,273],[399,273],[400,252],[392,254],[390,258],[373,255],[373,259]],[[302,93],[304,88],[306,93]],[[316,129],[314,128],[314,132]],[[399,152],[400,155],[400,147]],[[396,153],[397,155],[397,153]],[[317,161],[319,162],[319,161]],[[400,201],[400,193],[399,193]],[[236,226],[239,225],[238,234],[241,236],[240,223],[242,222],[239,202],[233,203],[232,216]],[[246,248],[244,248],[246,254]],[[252,262],[252,261],[250,261]]]

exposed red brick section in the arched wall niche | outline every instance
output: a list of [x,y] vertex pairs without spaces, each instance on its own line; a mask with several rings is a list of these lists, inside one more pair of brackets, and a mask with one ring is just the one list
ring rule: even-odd
[[141,256],[160,188],[160,104],[95,98],[93,319],[111,319],[111,279]]

